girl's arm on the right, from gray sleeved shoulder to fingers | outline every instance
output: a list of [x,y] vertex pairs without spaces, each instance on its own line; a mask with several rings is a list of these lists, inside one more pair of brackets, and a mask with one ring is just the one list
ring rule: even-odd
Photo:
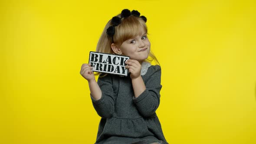
[[[135,97],[133,101],[144,117],[149,117],[155,113],[160,104],[161,67],[155,65],[151,67],[151,75],[148,80],[143,81],[141,77],[141,64],[134,59],[128,59],[125,67],[131,72],[131,82]],[[149,70],[149,69],[148,69]]]

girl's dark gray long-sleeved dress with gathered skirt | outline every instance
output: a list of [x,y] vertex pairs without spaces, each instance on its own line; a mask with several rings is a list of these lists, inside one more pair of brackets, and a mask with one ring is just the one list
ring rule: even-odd
[[98,78],[102,98],[92,104],[101,118],[95,144],[168,144],[155,111],[160,104],[161,68],[141,76],[146,90],[134,97],[130,75]]

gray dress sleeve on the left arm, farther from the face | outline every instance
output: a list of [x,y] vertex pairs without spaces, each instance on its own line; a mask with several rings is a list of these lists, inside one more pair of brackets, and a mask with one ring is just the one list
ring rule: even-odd
[[115,108],[115,98],[112,85],[111,75],[98,78],[98,85],[102,91],[102,97],[95,100],[91,95],[92,105],[97,111],[97,114],[102,118],[110,118]]

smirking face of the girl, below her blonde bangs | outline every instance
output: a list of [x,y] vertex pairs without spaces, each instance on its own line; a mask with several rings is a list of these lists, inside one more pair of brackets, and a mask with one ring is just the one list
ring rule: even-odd
[[150,52],[150,42],[147,33],[124,41],[120,46],[120,49],[123,55],[130,56],[130,59],[142,62],[148,58]]

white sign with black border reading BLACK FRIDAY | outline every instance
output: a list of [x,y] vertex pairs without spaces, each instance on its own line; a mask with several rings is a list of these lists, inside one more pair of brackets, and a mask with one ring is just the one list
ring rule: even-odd
[[125,68],[125,61],[127,59],[130,59],[130,57],[101,52],[90,52],[89,63],[94,72],[105,72],[127,76],[128,69]]

